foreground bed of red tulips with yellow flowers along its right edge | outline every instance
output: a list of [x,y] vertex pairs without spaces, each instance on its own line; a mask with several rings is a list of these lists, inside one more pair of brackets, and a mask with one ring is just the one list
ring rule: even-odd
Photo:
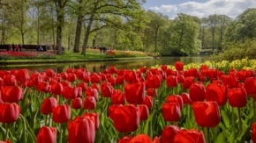
[[0,140],[256,142],[254,63],[177,61],[102,73],[0,70]]

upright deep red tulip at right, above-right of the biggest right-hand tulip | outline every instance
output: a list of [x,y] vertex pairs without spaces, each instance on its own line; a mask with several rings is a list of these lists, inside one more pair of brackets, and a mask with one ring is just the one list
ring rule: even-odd
[[232,107],[245,107],[247,104],[247,94],[244,88],[230,89],[229,102]]

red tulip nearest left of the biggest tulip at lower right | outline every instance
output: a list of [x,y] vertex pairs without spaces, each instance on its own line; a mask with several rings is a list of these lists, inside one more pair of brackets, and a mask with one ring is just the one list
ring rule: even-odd
[[163,118],[169,122],[177,122],[180,119],[181,112],[178,103],[162,104]]

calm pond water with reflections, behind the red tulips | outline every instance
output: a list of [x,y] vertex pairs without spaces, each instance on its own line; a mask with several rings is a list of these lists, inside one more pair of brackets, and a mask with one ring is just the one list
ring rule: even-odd
[[154,65],[174,65],[176,61],[182,61],[184,64],[201,63],[209,60],[208,56],[189,56],[189,57],[162,57],[157,60],[139,60],[139,61],[90,61],[78,63],[49,63],[49,64],[30,64],[30,65],[1,65],[0,69],[10,70],[18,68],[28,68],[30,71],[42,72],[47,68],[55,70],[57,73],[65,71],[67,68],[87,68],[90,72],[102,72],[115,66],[117,69],[137,69],[146,66],[150,68]]

